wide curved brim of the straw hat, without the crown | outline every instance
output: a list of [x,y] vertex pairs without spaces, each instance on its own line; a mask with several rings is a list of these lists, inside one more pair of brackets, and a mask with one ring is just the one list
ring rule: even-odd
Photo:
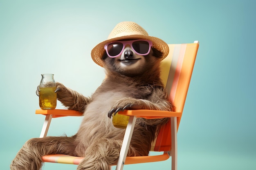
[[114,41],[119,41],[119,40],[124,40],[124,39],[144,39],[144,40],[150,40],[152,41],[152,46],[153,48],[157,49],[158,51],[162,52],[161,59],[163,60],[169,53],[169,47],[166,42],[163,40],[156,38],[156,37],[151,37],[148,35],[126,35],[126,36],[121,36],[121,37],[116,37],[116,38],[111,38],[109,40],[105,40],[99,44],[97,44],[91,52],[92,60],[98,64],[99,66],[103,67],[104,62],[102,60],[102,57],[105,53],[104,45],[109,43],[109,42],[114,42]]

